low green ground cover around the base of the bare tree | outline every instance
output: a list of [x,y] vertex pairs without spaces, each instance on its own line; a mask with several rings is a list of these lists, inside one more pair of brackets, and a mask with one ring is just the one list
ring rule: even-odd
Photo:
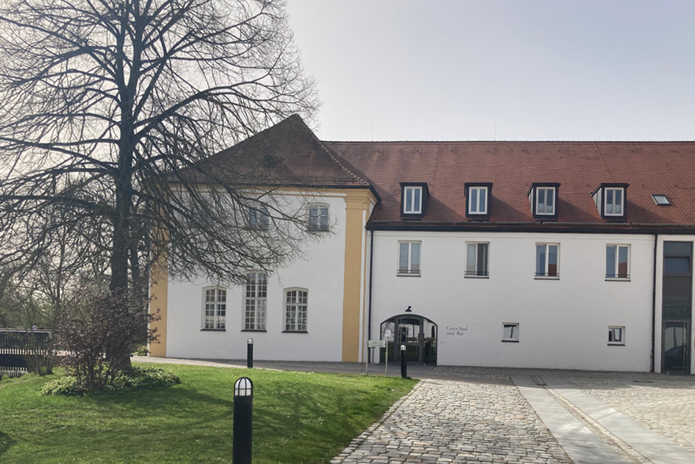
[[[181,383],[181,378],[170,371],[158,367],[133,367],[129,371],[121,371],[115,376],[113,384],[107,385],[108,391],[157,390]],[[85,385],[81,385],[76,377],[65,376],[50,381],[42,388],[44,395],[62,395],[71,397],[88,393]]]

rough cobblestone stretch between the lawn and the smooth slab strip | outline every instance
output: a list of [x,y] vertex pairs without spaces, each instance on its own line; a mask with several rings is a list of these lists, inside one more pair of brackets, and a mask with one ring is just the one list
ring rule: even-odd
[[425,380],[332,463],[571,461],[512,385]]

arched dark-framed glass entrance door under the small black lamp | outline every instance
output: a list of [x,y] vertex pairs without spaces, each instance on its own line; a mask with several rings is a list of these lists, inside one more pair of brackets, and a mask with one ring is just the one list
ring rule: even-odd
[[[387,337],[386,334],[391,334]],[[416,314],[402,314],[382,322],[381,339],[388,340],[389,349],[381,349],[380,362],[400,361],[400,346],[405,345],[407,362],[436,365],[436,323]]]

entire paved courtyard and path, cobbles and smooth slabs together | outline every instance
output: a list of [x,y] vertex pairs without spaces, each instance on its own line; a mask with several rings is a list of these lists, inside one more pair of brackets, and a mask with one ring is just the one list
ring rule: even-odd
[[[365,370],[341,362],[254,367]],[[384,367],[370,366],[369,374],[383,375]],[[423,381],[331,463],[695,463],[695,377],[441,366],[409,366],[408,374]],[[400,375],[398,366],[389,375]]]

